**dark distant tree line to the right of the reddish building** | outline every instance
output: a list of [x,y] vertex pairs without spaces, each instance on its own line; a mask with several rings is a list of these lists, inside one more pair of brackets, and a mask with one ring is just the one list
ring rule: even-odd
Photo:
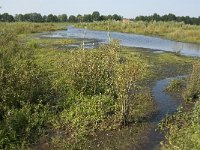
[[154,13],[151,16],[138,16],[135,19],[136,21],[177,21],[177,22],[184,22],[185,24],[191,25],[200,25],[200,16],[197,17],[189,17],[189,16],[175,16],[174,14],[168,14],[160,16]]

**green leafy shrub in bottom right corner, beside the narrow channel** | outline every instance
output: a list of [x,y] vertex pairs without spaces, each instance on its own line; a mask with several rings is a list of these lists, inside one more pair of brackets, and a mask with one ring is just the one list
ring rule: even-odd
[[162,122],[166,134],[163,150],[200,149],[200,103],[189,112],[178,112]]

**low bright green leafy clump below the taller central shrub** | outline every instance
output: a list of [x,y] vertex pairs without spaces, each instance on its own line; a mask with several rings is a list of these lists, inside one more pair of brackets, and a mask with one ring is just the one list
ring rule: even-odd
[[105,124],[105,120],[117,112],[115,103],[111,97],[105,95],[79,96],[70,109],[61,113],[61,119],[62,122],[71,126],[71,129],[76,131],[75,134],[79,136],[81,133],[92,133],[94,130],[102,129],[101,126]]

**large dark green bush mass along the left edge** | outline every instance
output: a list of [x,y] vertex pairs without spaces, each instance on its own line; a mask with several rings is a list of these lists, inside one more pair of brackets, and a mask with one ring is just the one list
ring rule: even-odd
[[0,93],[0,149],[26,149],[43,133],[47,107],[57,95],[48,73],[34,63],[33,49],[4,31],[0,34]]

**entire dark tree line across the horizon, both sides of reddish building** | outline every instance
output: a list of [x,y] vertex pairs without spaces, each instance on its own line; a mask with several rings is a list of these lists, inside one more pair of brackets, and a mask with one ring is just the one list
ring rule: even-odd
[[[0,22],[96,22],[96,21],[106,21],[106,20],[116,20],[121,21],[123,19],[122,16],[114,14],[114,15],[101,15],[98,11],[94,11],[92,14],[78,14],[77,16],[67,14],[62,15],[44,15],[42,16],[40,13],[27,13],[27,14],[16,14],[12,16],[8,13],[0,14]],[[160,16],[154,13],[151,16],[137,16],[134,19],[130,19],[132,21],[144,21],[144,22],[152,22],[152,21],[174,21],[174,22],[183,22],[185,24],[190,25],[200,25],[200,17],[189,17],[189,16],[175,16],[174,14],[167,14]]]

